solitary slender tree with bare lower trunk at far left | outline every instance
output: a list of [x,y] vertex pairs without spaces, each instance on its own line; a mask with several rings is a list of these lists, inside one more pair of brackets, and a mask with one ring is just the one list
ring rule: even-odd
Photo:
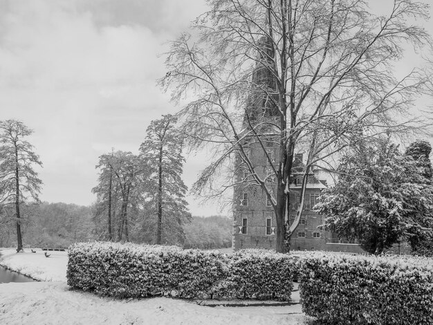
[[17,225],[17,252],[22,250],[21,203],[27,198],[39,201],[42,180],[37,177],[33,165],[42,166],[33,145],[24,140],[33,133],[17,120],[0,122],[0,185],[2,205],[15,205]]

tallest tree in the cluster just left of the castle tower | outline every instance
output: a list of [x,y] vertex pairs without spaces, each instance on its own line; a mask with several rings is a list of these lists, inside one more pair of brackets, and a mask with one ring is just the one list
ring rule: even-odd
[[156,219],[157,244],[183,243],[182,225],[191,219],[185,201],[187,187],[181,178],[185,163],[183,137],[176,129],[176,122],[172,115],[152,121],[140,146],[140,158],[151,169],[145,204],[148,217]]

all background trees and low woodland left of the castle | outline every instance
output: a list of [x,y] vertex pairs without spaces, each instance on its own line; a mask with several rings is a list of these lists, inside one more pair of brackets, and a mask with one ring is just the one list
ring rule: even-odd
[[33,130],[17,120],[0,121],[0,247],[67,248],[89,240],[230,246],[228,219],[197,217],[189,224],[176,122],[172,115],[152,121],[138,155],[112,150],[100,156],[97,201],[86,207],[41,203],[34,167],[42,163],[26,140]]

